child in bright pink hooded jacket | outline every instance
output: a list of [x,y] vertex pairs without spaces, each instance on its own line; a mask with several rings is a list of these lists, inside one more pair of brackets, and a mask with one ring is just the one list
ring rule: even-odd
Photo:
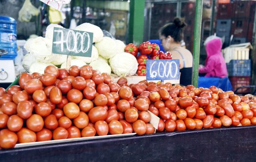
[[199,73],[206,73],[205,77],[227,77],[227,66],[221,54],[221,38],[213,36],[209,39],[205,43],[207,52],[205,66],[198,69]]

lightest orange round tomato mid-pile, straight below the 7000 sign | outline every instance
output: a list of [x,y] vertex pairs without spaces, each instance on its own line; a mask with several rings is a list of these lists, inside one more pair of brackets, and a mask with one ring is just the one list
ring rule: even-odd
[[79,116],[80,109],[79,106],[74,102],[69,102],[63,107],[63,111],[66,117],[70,119],[75,119]]

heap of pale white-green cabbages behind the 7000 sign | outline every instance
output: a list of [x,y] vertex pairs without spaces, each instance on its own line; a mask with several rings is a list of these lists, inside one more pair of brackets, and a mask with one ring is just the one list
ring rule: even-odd
[[[29,73],[44,74],[44,69],[48,65],[66,68],[67,55],[52,54],[54,27],[63,28],[57,24],[50,24],[46,29],[45,37],[29,39],[24,45],[29,54],[26,54],[22,64]],[[72,56],[71,66],[81,67],[89,64],[101,73],[111,74],[112,71],[118,76],[130,76],[136,73],[137,60],[133,55],[124,52],[125,44],[122,41],[104,37],[101,28],[90,23],[83,23],[75,30],[92,32],[95,46],[93,45],[91,57]]]

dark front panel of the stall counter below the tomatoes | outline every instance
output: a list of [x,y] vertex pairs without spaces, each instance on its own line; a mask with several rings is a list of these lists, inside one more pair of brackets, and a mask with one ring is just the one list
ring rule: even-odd
[[0,151],[0,161],[255,161],[256,125],[162,132]]

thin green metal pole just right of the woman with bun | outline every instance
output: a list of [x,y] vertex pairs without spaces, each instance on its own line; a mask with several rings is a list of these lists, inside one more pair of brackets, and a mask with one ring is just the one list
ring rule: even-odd
[[192,85],[194,85],[195,87],[198,87],[198,66],[199,66],[199,56],[200,56],[203,0],[196,0],[195,3],[196,4],[195,4]]

